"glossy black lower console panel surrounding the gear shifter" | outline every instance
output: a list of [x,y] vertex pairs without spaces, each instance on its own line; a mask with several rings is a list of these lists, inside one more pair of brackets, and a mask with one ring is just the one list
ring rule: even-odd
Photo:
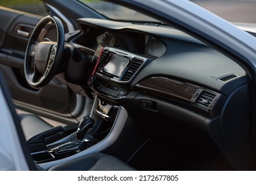
[[82,118],[76,132],[46,145],[47,148],[45,150],[32,152],[32,157],[38,164],[42,164],[74,156],[84,150],[95,147],[107,137],[111,128],[113,128],[118,109],[118,106],[104,103],[95,97],[93,111],[91,112],[93,118],[88,116]]

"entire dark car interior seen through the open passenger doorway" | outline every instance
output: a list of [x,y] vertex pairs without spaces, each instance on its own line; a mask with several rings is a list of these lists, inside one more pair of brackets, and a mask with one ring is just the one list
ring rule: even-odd
[[255,169],[238,58],[165,24],[60,3],[70,31],[45,3],[43,18],[0,7],[0,71],[38,170]]

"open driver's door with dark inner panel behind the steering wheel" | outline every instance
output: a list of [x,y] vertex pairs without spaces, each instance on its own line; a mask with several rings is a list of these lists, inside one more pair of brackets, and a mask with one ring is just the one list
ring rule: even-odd
[[[11,4],[12,1],[9,2]],[[33,89],[26,83],[24,77],[26,45],[34,27],[46,15],[43,3],[38,4],[38,2],[41,1],[36,0],[36,4],[28,3],[24,9],[22,5],[14,7],[22,11],[0,7],[0,71],[7,81],[17,109],[67,124],[76,122],[73,116],[78,118],[88,113],[86,97],[75,94],[76,91],[71,91],[69,84],[57,78],[53,78],[41,89]],[[4,2],[2,4],[9,5]],[[2,4],[0,2],[0,5]],[[33,14],[35,12],[24,12],[26,9],[34,10],[33,7],[40,9],[36,13],[41,15]],[[51,26],[47,29],[48,36],[54,38],[55,32]],[[79,87],[78,90],[80,90]]]

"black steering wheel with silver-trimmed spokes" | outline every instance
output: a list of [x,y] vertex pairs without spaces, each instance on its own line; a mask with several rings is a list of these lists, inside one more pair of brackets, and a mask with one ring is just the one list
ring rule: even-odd
[[[38,42],[39,34],[49,22],[53,22],[56,26],[57,42]],[[26,81],[31,87],[41,88],[52,80],[61,67],[63,51],[64,28],[61,20],[56,16],[45,16],[34,28],[26,48],[24,72]]]

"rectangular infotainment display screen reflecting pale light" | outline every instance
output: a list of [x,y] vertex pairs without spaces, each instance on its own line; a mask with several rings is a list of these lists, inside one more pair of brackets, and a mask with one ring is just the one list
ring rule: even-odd
[[120,78],[124,69],[129,62],[129,58],[121,57],[119,55],[112,54],[109,62],[103,67],[103,72],[111,74],[117,78]]

